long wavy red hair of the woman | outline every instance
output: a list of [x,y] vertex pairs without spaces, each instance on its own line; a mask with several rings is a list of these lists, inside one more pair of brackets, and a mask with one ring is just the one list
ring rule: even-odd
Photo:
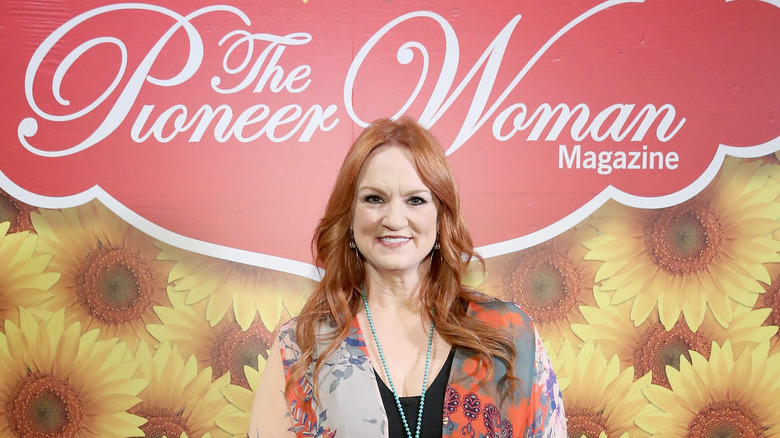
[[[349,335],[361,307],[361,285],[365,280],[362,255],[350,248],[352,208],[357,179],[368,155],[377,147],[397,144],[408,147],[420,179],[439,200],[440,248],[430,258],[430,269],[420,285],[423,309],[432,309],[439,335],[450,345],[472,351],[486,367],[483,383],[493,373],[493,361],[507,369],[505,394],[511,394],[517,381],[512,372],[517,355],[509,334],[467,314],[468,303],[489,299],[462,284],[469,261],[482,259],[474,252],[471,235],[461,210],[455,177],[436,138],[416,121],[380,119],[355,140],[341,166],[325,214],[314,232],[312,252],[315,263],[324,270],[322,280],[298,315],[296,341],[301,357],[292,367],[287,391],[299,381],[312,362],[314,379],[324,361],[313,358],[322,324],[333,326],[325,341],[329,344],[320,357],[326,358]],[[484,263],[483,263],[484,266]],[[316,380],[314,387],[317,388]]]

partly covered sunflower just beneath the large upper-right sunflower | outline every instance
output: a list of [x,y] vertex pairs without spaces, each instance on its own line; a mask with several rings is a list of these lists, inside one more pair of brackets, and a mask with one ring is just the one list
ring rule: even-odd
[[598,307],[582,307],[587,324],[574,324],[572,330],[583,340],[601,346],[607,356],[617,355],[621,366],[633,366],[637,376],[652,371],[653,383],[669,387],[666,366],[680,368],[683,357],[690,360],[692,351],[709,357],[713,341],[723,344],[727,339],[741,349],[755,347],[777,333],[777,327],[762,325],[768,309],[751,310],[735,305],[734,318],[724,329],[712,315],[706,315],[699,330],[691,331],[682,319],[666,330],[656,315],[651,315],[638,327],[629,318],[629,303],[610,305],[610,294],[596,290]]

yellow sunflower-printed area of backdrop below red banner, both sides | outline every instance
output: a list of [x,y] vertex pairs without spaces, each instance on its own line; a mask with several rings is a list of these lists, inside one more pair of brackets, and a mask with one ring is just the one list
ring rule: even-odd
[[[570,436],[780,436],[780,162],[683,204],[607,203],[486,260],[537,322]],[[0,435],[242,437],[313,281],[171,247],[97,201],[0,195]]]

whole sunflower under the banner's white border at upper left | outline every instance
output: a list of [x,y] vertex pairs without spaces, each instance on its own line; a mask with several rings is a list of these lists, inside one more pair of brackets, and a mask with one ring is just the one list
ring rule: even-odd
[[48,270],[61,273],[42,307],[66,309],[68,323],[100,328],[135,348],[153,343],[146,324],[158,322],[153,306],[167,305],[170,262],[157,260],[154,240],[97,201],[33,214],[38,252],[51,254]]

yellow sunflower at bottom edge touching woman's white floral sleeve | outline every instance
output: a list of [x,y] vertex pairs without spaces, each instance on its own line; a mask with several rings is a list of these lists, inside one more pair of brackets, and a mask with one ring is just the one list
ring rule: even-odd
[[575,353],[566,340],[560,353],[550,356],[562,363],[556,375],[569,380],[562,391],[569,436],[647,436],[634,418],[647,406],[642,389],[650,385],[649,374],[634,380],[632,367],[621,370],[617,356],[607,359],[593,342]]

